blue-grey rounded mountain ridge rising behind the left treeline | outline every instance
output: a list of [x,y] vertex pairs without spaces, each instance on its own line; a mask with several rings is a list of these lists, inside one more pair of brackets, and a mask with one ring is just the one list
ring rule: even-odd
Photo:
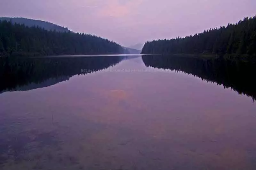
[[32,27],[32,26],[39,26],[44,28],[48,31],[57,31],[57,32],[69,32],[68,28],[64,26],[58,26],[56,24],[52,24],[46,21],[28,19],[28,18],[10,18],[10,17],[0,17],[0,21],[10,21],[12,24],[24,24],[25,26]]

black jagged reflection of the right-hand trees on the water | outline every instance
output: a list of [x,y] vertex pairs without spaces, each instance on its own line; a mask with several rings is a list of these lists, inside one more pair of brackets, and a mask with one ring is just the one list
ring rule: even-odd
[[192,74],[207,82],[232,88],[256,100],[255,61],[233,61],[223,58],[195,58],[173,55],[142,56],[147,67],[170,69]]

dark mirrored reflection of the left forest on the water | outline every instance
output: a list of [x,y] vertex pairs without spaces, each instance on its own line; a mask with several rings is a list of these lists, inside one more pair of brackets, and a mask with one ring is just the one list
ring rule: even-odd
[[0,58],[0,92],[24,91],[66,81],[117,64],[125,56]]

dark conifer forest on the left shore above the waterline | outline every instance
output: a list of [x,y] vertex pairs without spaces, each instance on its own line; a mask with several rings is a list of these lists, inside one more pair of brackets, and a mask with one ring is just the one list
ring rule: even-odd
[[115,42],[84,33],[48,31],[0,21],[0,56],[123,54]]

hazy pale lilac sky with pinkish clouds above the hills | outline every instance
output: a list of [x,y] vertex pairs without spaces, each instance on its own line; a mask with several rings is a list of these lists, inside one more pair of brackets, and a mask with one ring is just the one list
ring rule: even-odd
[[25,17],[130,46],[195,34],[256,14],[256,0],[0,0],[0,16]]

